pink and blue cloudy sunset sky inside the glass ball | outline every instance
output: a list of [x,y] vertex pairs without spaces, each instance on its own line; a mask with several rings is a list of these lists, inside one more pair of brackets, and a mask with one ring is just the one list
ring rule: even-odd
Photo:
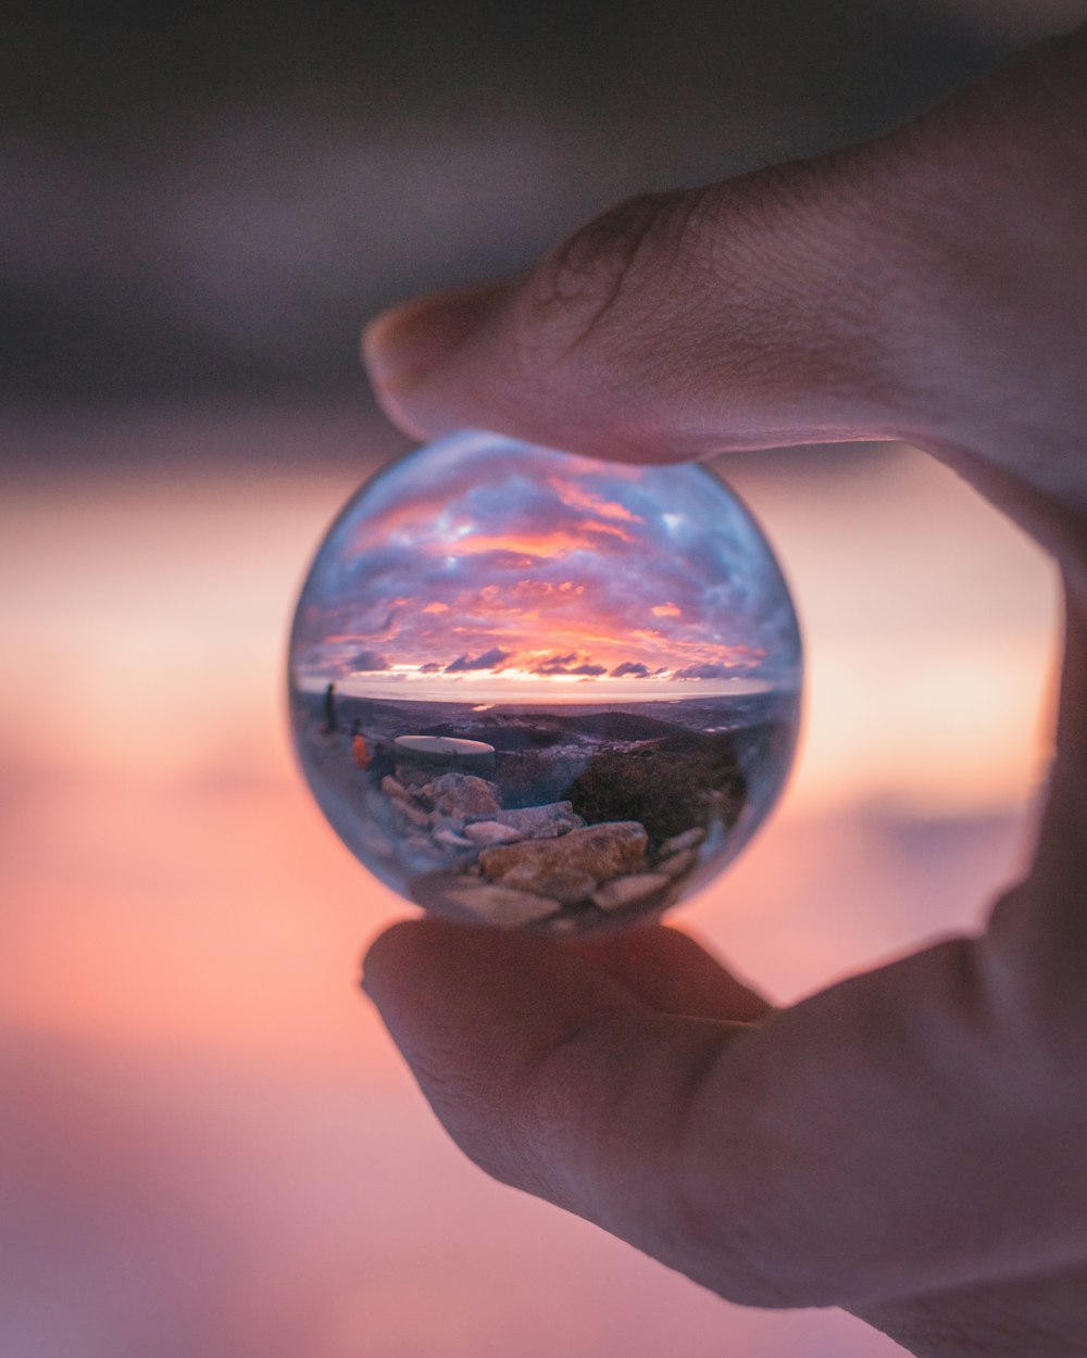
[[371,695],[647,699],[792,686],[760,531],[700,467],[462,435],[379,475],[299,606],[295,679]]

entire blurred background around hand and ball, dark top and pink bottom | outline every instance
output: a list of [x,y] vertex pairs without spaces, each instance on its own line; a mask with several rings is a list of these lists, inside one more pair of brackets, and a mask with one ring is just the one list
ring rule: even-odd
[[[356,991],[402,913],[283,717],[307,558],[405,440],[361,322],[649,187],[883,129],[1071,0],[16,5],[0,49],[0,1353],[875,1358],[491,1184]],[[1044,559],[905,447],[728,459],[810,656],[686,928],[788,1001],[976,928],[1045,770]]]

